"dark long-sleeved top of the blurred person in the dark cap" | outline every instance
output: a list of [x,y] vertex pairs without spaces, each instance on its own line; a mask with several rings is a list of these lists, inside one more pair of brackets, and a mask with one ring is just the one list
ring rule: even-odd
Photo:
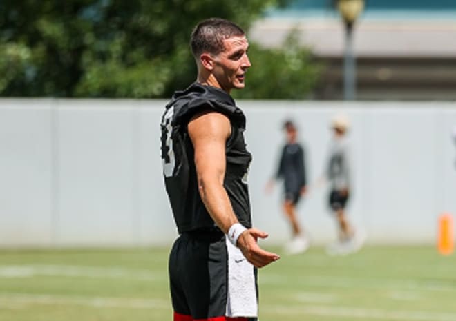
[[305,186],[305,156],[300,144],[285,144],[283,146],[276,177],[283,178],[285,191],[297,192]]

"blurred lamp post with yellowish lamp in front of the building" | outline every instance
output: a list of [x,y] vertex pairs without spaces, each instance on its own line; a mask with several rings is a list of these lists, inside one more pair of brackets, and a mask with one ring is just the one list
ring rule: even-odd
[[337,0],[337,8],[345,26],[345,52],[343,57],[343,98],[356,98],[356,61],[353,53],[353,26],[364,8],[364,0]]

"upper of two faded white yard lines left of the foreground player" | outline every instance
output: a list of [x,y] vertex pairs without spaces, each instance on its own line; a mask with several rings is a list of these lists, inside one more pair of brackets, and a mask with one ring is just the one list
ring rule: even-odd
[[69,276],[84,278],[133,278],[135,280],[157,280],[160,278],[150,271],[103,268],[94,266],[71,265],[3,265],[0,278],[30,278],[37,275]]

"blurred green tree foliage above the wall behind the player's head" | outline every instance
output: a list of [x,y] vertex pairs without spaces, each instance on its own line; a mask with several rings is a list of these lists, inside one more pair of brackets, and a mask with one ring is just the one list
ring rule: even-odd
[[[195,79],[188,41],[198,21],[223,17],[247,30],[266,8],[285,3],[287,0],[2,0],[0,95],[169,97]],[[275,62],[277,68],[265,68],[258,75],[252,72],[253,78],[260,79],[267,70],[278,72],[283,57],[287,66],[293,65],[285,51],[254,48],[258,66],[264,66],[264,60],[268,66]],[[304,69],[297,72],[303,74]],[[288,76],[295,81],[303,75]],[[286,81],[287,75],[282,77]],[[268,93],[258,80],[251,83],[256,84],[257,93],[251,90],[249,97]],[[288,92],[282,91],[284,95]]]

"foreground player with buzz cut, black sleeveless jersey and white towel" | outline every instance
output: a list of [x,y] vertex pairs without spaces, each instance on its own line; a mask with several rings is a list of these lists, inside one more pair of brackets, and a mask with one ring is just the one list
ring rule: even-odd
[[164,182],[180,234],[169,256],[174,321],[254,321],[256,269],[278,260],[257,244],[247,186],[245,115],[231,98],[251,66],[245,32],[225,19],[191,34],[196,82],[162,117]]

